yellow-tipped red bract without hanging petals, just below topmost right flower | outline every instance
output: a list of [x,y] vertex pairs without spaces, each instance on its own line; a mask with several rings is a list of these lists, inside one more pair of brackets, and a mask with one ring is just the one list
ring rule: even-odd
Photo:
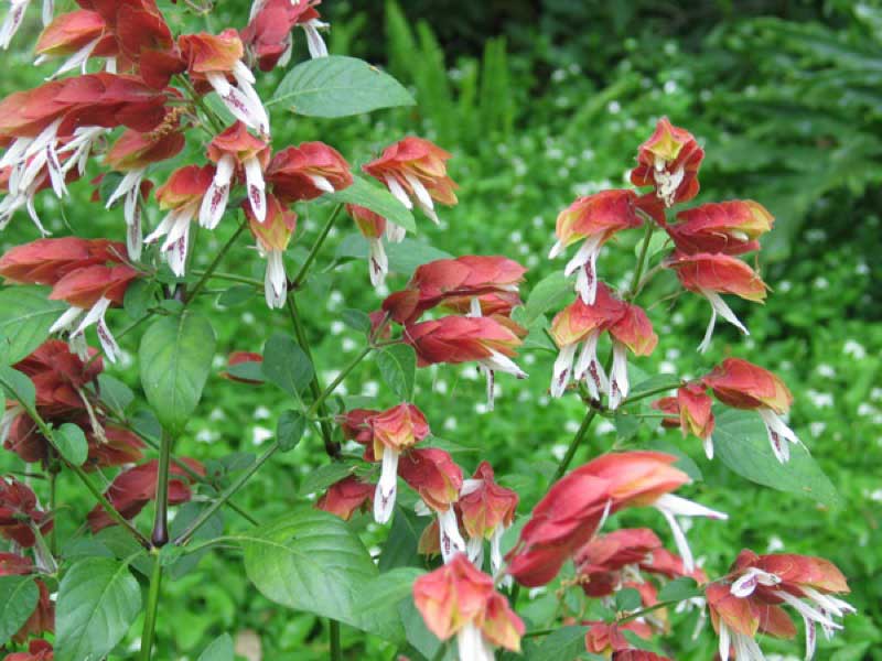
[[743,254],[760,249],[757,239],[772,229],[775,219],[752,199],[702,204],[679,212],[677,223],[665,229],[685,254],[723,252]]

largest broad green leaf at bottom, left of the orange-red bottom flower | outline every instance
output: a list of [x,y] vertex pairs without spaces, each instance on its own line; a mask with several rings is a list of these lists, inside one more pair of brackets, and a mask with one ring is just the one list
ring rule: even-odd
[[387,640],[404,631],[394,604],[361,613],[377,567],[344,521],[303,507],[244,535],[245,572],[282,606],[330,617]]

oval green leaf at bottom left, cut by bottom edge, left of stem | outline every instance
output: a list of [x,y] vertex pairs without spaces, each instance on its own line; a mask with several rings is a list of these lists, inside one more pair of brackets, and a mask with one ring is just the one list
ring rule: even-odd
[[97,661],[129,630],[141,610],[141,589],[126,563],[89,557],[73,565],[58,586],[56,661]]

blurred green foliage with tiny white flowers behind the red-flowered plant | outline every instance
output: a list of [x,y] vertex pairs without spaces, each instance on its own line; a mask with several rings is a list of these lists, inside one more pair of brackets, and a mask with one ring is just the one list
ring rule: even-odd
[[[244,0],[218,2],[208,15],[197,15],[186,3],[160,4],[175,31],[241,26],[248,9]],[[57,11],[65,9],[72,7]],[[676,281],[663,274],[641,301],[649,307],[660,343],[638,366],[649,373],[697,376],[736,355],[775,371],[796,398],[793,426],[839,489],[841,506],[828,509],[746,483],[719,462],[707,462],[698,442],[682,440],[678,431],[644,426],[635,438],[623,440],[601,421],[577,458],[584,460],[614,443],[663,442],[689,454],[704,479],[686,494],[730,514],[727,523],[698,521],[690,532],[708,573],[722,574],[744,546],[829,557],[849,577],[850,600],[859,614],[846,620],[845,632],[832,642],[821,641],[818,657],[882,659],[882,8],[845,0],[327,0],[321,10],[332,24],[333,54],[386,67],[413,91],[418,105],[341,120],[309,120],[277,109],[275,149],[323,140],[361,165],[406,133],[437,141],[453,153],[450,173],[461,186],[460,204],[442,209],[440,227],[419,219],[418,240],[452,254],[502,253],[520,260],[530,269],[526,291],[562,268],[562,261],[546,259],[558,212],[578,195],[624,185],[636,147],[662,115],[692,131],[707,152],[696,203],[749,197],[770,208],[776,224],[759,264],[772,294],[765,306],[732,303],[751,337],[721,326],[711,350],[698,356],[695,347],[708,306],[688,294],[669,297]],[[30,64],[37,14],[30,12],[13,50],[3,56],[3,95],[33,87],[51,73]],[[302,33],[295,42],[304,57]],[[261,76],[260,90],[271,95],[282,75]],[[190,158],[198,159],[200,151],[194,145]],[[162,182],[168,170],[158,167],[151,177]],[[56,236],[121,239],[121,210],[104,212],[88,201],[89,194],[85,177],[61,204],[43,194],[37,205],[47,227]],[[329,210],[321,204],[298,209],[302,239],[294,241],[289,264],[303,258]],[[155,224],[158,210],[149,217]],[[203,235],[196,262],[207,263],[230,230],[228,225]],[[364,260],[346,257],[354,232],[348,220],[338,223],[316,274],[299,296],[324,382],[363,344],[341,313],[375,310],[383,297],[372,291]],[[33,226],[20,214],[0,242],[6,250],[34,238]],[[637,234],[624,235],[604,249],[602,278],[613,285],[627,281],[637,240]],[[223,270],[262,278],[262,262],[245,242]],[[395,274],[389,285],[396,289],[406,279],[407,273]],[[284,315],[269,313],[259,293],[236,305],[215,304],[211,314],[219,339],[217,371],[229,350],[260,350],[273,330],[287,329]],[[121,311],[110,315],[117,328],[128,321]],[[138,333],[126,337],[121,344],[129,358],[108,368],[136,389],[137,342]],[[490,459],[503,481],[519,490],[521,512],[547,488],[556,457],[581,420],[576,398],[550,401],[547,395],[552,360],[546,350],[524,351],[520,362],[530,379],[499,378],[493,413],[483,405],[484,386],[473,368],[419,373],[417,403],[434,432],[472,448],[455,457],[466,472]],[[373,361],[346,380],[342,393],[349,404],[358,402],[353,395],[377,395],[379,407],[396,403]],[[203,460],[245,453],[239,459],[248,462],[287,405],[271,386],[212,377],[175,452]],[[308,436],[294,452],[262,468],[236,501],[269,520],[304,498],[304,477],[325,463],[320,440]],[[224,466],[236,468],[228,460],[217,464]],[[8,453],[0,467],[22,468]],[[35,481],[35,488],[42,484]],[[65,511],[58,525],[65,539],[77,531],[90,503],[65,478],[61,501]],[[225,517],[229,529],[245,525],[235,514]],[[660,517],[617,519],[620,524],[652,524],[668,539]],[[366,517],[353,525],[363,530],[370,548],[381,546],[385,530]],[[675,616],[663,648],[678,659],[710,659],[712,631],[706,627],[697,641],[690,640],[693,617]],[[222,549],[163,585],[157,655],[196,659],[213,638],[229,631],[243,654],[248,644],[261,650],[261,657],[250,658],[323,659],[324,626],[261,597],[247,582],[236,551]],[[137,649],[137,631],[140,625],[114,658],[129,658],[126,650]],[[802,654],[802,642],[763,640],[762,646],[792,658]],[[344,647],[351,659],[389,660],[395,652],[345,628]]]

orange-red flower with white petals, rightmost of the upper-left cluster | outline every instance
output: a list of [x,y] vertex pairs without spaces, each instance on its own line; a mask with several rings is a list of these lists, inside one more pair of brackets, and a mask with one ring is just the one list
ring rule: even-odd
[[379,159],[363,170],[383,182],[408,209],[413,204],[435,224],[434,203],[456,204],[458,188],[448,176],[447,161],[451,154],[423,138],[405,138],[387,147]]

